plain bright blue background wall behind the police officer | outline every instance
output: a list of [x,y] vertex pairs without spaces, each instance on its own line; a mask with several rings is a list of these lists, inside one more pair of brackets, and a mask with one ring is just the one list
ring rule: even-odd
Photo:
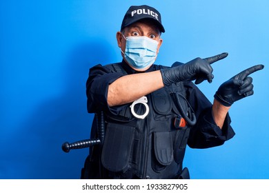
[[255,1],[0,1],[0,179],[79,179],[88,149],[88,69],[121,61],[116,32],[126,10],[148,4],[166,32],[156,63],[221,52],[215,79],[199,88],[213,100],[224,81],[252,65],[255,94],[230,109],[235,137],[217,148],[188,148],[192,179],[269,179],[269,3]]

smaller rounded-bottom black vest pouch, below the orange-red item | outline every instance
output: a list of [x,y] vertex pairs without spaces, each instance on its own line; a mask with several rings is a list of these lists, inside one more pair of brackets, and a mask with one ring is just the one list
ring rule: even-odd
[[170,132],[154,132],[155,157],[161,165],[170,165],[174,161],[172,136]]

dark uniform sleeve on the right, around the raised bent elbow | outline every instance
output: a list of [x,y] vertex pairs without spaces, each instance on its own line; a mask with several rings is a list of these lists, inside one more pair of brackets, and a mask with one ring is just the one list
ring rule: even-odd
[[188,145],[190,148],[211,148],[223,145],[228,141],[235,132],[230,123],[231,119],[227,114],[223,128],[219,128],[212,116],[212,103],[192,82],[185,83],[187,88],[187,99],[195,111],[197,123],[190,128]]

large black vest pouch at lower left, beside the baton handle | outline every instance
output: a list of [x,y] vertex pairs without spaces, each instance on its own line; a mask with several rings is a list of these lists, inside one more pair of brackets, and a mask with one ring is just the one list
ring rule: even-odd
[[112,172],[125,171],[128,168],[134,136],[134,127],[108,123],[101,154],[103,167]]

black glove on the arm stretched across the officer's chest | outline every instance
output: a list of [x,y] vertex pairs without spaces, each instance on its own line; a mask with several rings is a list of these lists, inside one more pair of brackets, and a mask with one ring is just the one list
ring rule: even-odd
[[196,84],[204,80],[212,82],[214,78],[212,74],[211,63],[215,63],[228,56],[228,53],[222,53],[215,57],[208,57],[206,59],[196,58],[188,63],[182,64],[175,62],[172,68],[161,69],[161,76],[163,77],[163,84],[170,85],[179,81],[195,81]]

